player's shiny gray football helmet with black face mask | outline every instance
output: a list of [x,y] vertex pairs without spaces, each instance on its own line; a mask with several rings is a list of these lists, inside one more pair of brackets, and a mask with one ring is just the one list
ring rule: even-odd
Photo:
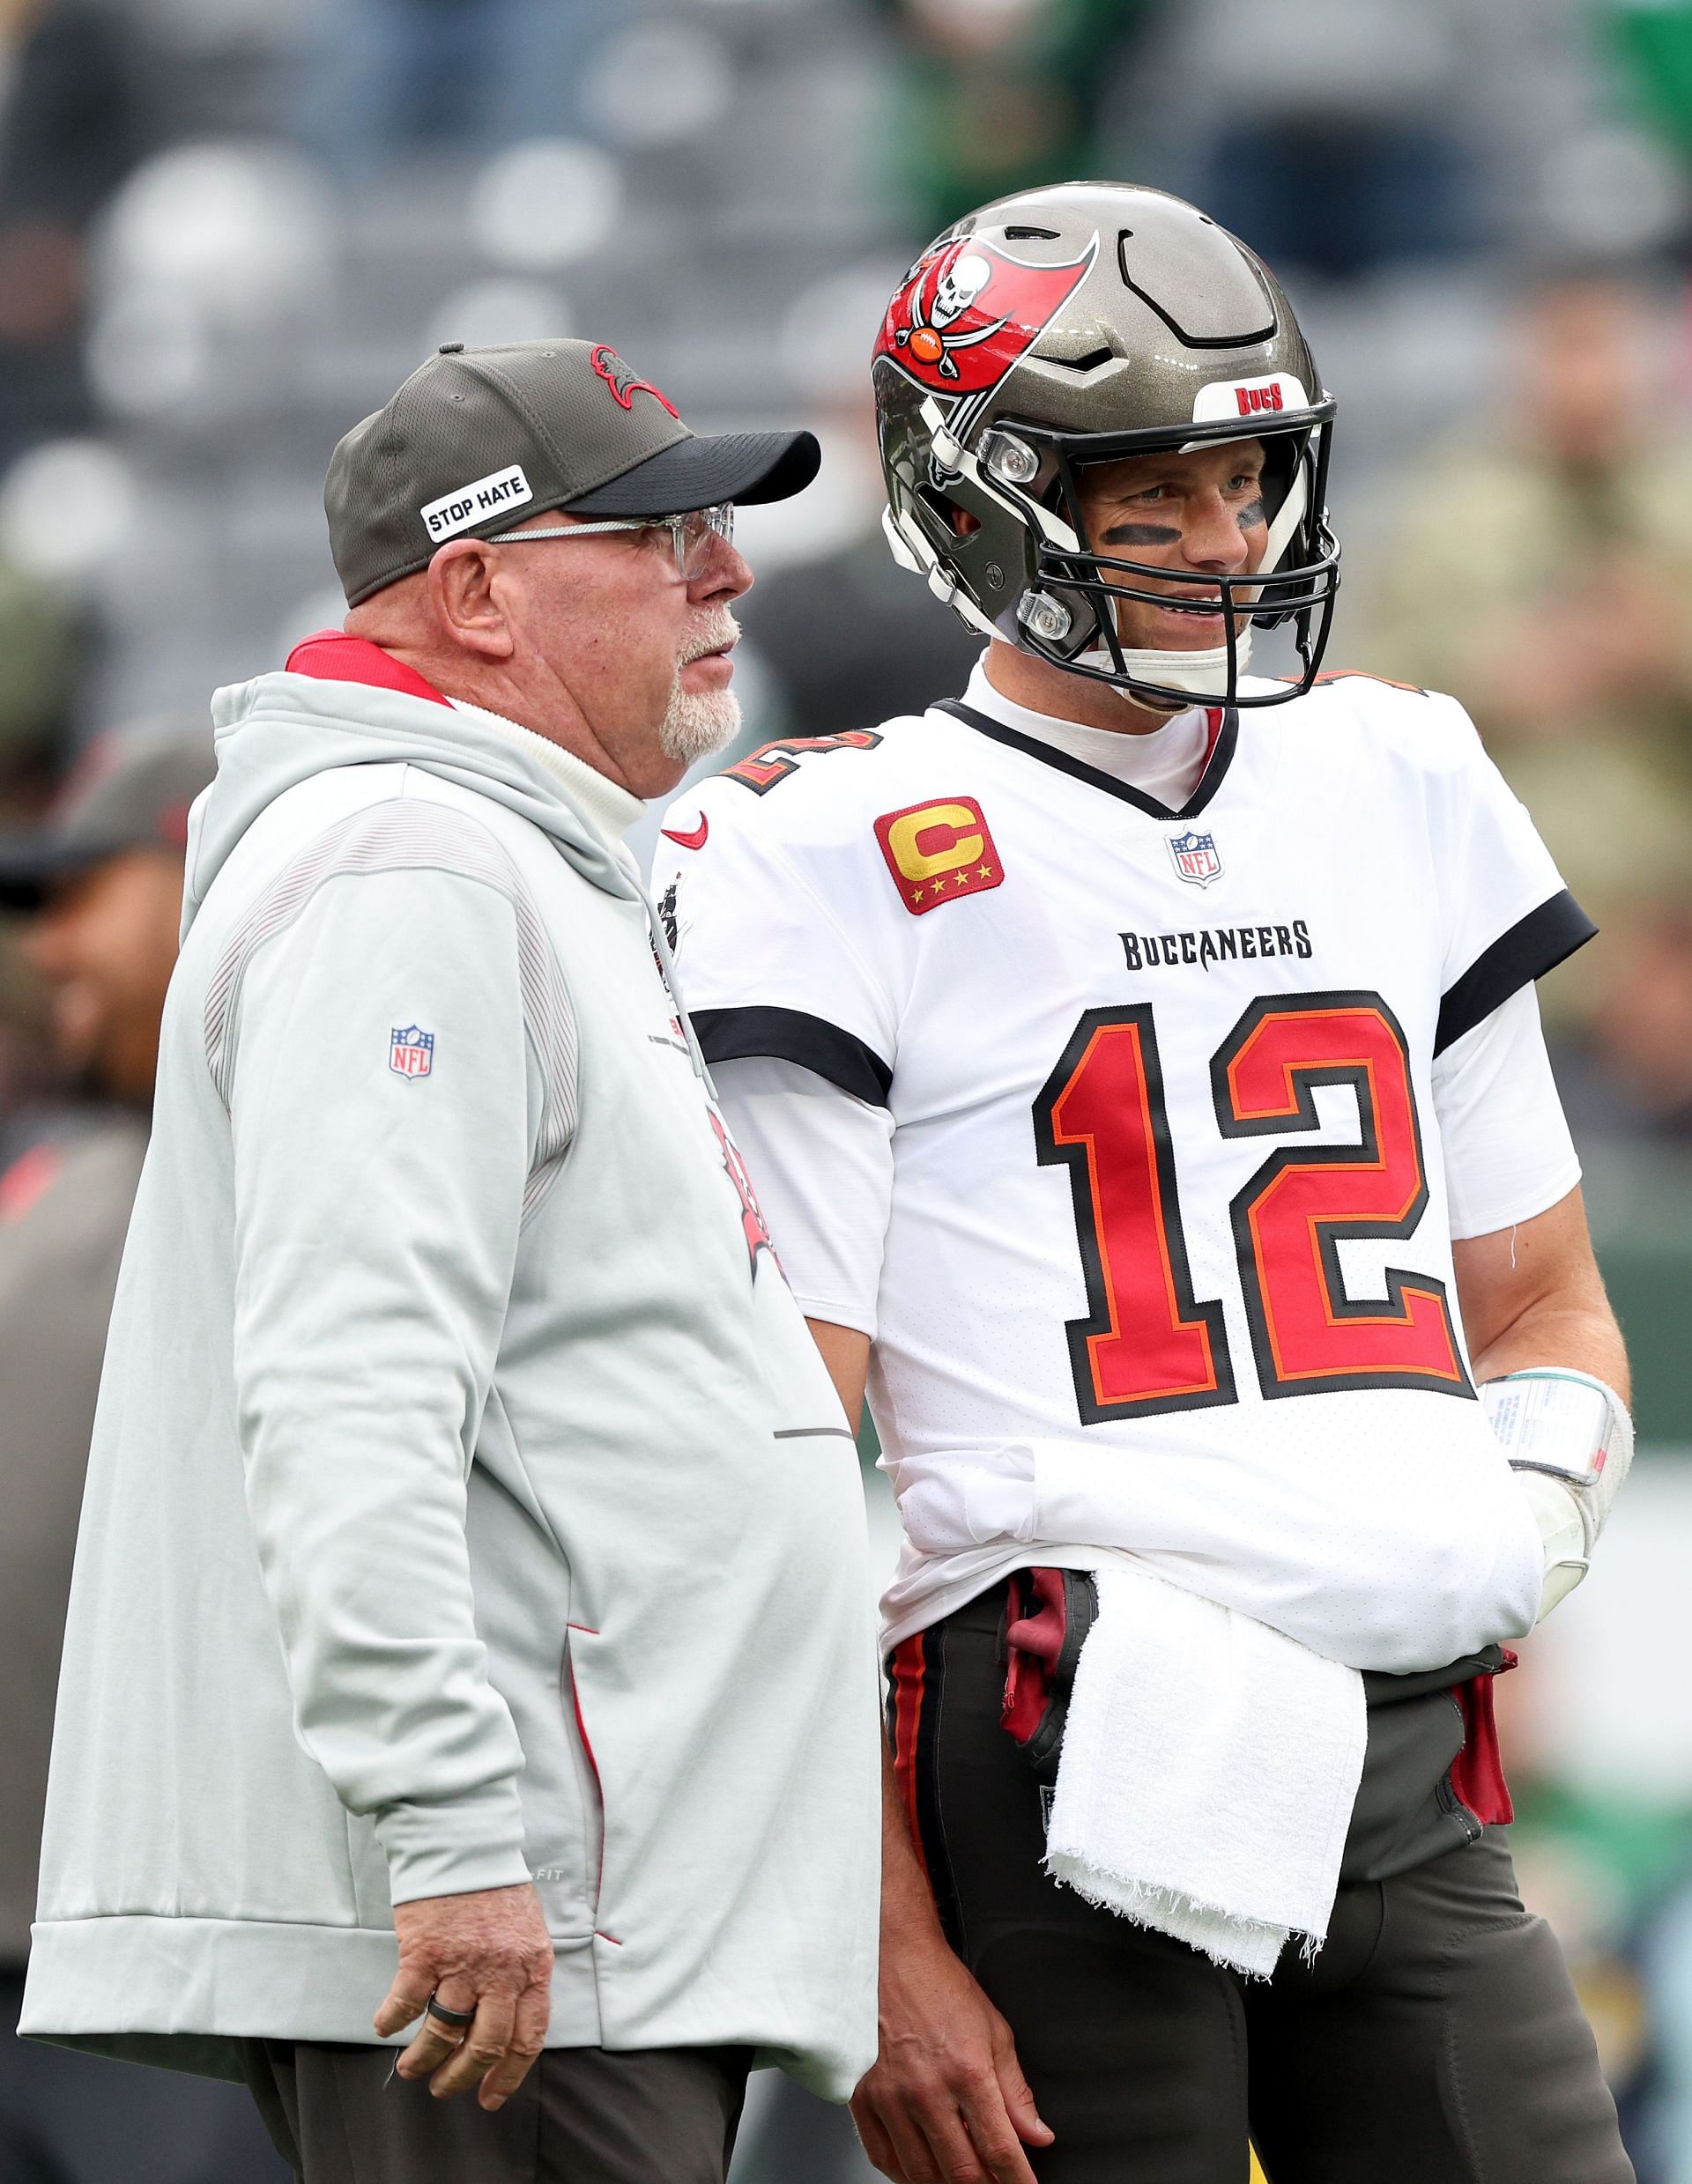
[[[1316,679],[1338,590],[1325,489],[1334,400],[1275,275],[1196,205],[1127,183],[1022,190],[948,227],[873,354],[893,555],[972,629],[1124,697],[1273,705]],[[1089,463],[1258,439],[1268,548],[1251,574],[1098,553]],[[1135,651],[1113,601],[1192,587],[1225,642]],[[1301,675],[1240,695],[1253,627]]]

